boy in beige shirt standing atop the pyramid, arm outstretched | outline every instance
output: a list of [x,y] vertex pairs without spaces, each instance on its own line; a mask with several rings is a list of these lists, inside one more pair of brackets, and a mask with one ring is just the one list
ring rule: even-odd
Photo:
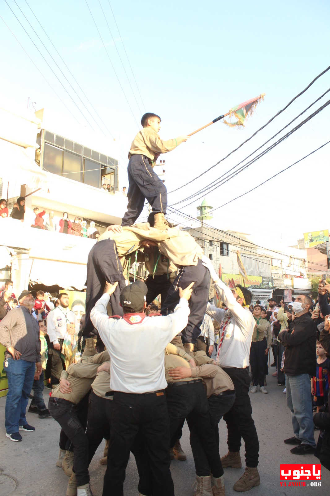
[[122,218],[122,226],[131,226],[139,217],[147,199],[155,214],[155,228],[164,229],[167,206],[167,190],[164,183],[153,171],[153,165],[161,153],[176,148],[187,141],[189,136],[163,141],[159,136],[161,118],[150,112],[141,119],[143,129],[137,133],[128,152],[128,205]]

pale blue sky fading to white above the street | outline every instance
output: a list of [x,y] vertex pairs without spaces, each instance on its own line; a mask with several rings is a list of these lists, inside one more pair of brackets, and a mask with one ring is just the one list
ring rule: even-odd
[[[36,41],[40,52],[67,86],[15,2],[7,1]],[[25,0],[16,1],[76,88]],[[167,165],[166,186],[170,191],[209,168],[249,137],[330,62],[330,7],[326,1],[274,3],[238,0],[229,3],[184,0],[157,3],[142,0],[137,3],[112,0],[111,6],[142,95],[142,102],[119,41],[109,1],[100,1],[140,108],[121,66],[99,0],[88,0],[88,4],[132,112],[110,65],[85,0],[28,0],[28,3],[110,132],[116,137],[122,186],[126,181],[125,157],[137,132],[135,120],[140,121],[141,111],[160,114],[160,134],[169,138],[189,133],[225,113],[230,107],[260,93],[266,93],[265,101],[246,122],[245,129],[229,129],[222,123],[214,124],[163,157]],[[1,2],[0,14],[72,114],[82,126],[86,126],[83,117],[4,1]],[[22,106],[26,105],[24,100],[30,96],[37,102],[38,108],[46,107],[59,115],[67,125],[77,125],[3,23],[0,29],[0,43],[1,65],[2,69],[5,69],[1,71],[0,79],[2,96],[8,95],[11,100],[16,100]],[[330,71],[285,113],[229,159],[200,180],[170,194],[169,204],[215,180],[269,139],[329,87]],[[81,107],[71,89],[68,91]],[[77,91],[80,94],[78,89]],[[329,94],[304,117],[328,99]],[[85,110],[83,112],[87,115]],[[304,117],[299,118],[297,123]],[[247,171],[206,195],[209,203],[217,207],[261,183],[328,141],[329,134],[328,107]],[[108,146],[106,151],[110,152],[113,146],[110,137]],[[288,244],[293,244],[303,232],[327,229],[330,227],[329,200],[325,201],[323,212],[320,212],[320,201],[329,198],[329,151],[330,145],[244,199],[221,208],[217,211],[213,224],[220,228],[253,234],[265,231],[274,241],[280,241],[282,237]],[[198,203],[187,207],[185,213],[195,216]],[[296,213],[293,220],[291,215],[294,211]]]

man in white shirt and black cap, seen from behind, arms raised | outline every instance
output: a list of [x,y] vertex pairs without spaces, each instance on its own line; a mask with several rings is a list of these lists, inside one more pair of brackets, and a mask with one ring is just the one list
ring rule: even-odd
[[140,431],[149,455],[153,494],[174,496],[169,465],[169,420],[165,398],[164,351],[187,325],[192,284],[180,291],[174,313],[146,317],[147,286],[137,281],[120,293],[123,317],[109,318],[112,286],[91,311],[91,321],[110,355],[110,389],[114,391],[108,467],[103,496],[121,496],[125,468]]

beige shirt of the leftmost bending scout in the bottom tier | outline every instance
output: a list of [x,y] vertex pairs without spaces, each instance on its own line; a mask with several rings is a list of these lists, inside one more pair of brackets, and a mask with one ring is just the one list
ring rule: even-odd
[[98,372],[98,367],[103,362],[109,360],[109,358],[109,353],[103,351],[92,357],[82,359],[77,364],[70,365],[67,371],[62,371],[60,379],[67,379],[70,382],[72,392],[61,393],[59,390],[60,384],[57,384],[52,391],[52,396],[55,398],[63,398],[64,400],[71,401],[71,403],[77,405],[91,389],[92,382]]

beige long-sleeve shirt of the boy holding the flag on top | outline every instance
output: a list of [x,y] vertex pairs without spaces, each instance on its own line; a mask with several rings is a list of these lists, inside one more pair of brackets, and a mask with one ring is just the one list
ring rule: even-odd
[[155,155],[170,152],[180,143],[182,143],[182,139],[180,138],[164,141],[155,129],[150,126],[144,127],[133,139],[131,149],[128,152],[128,158],[131,158],[131,155],[145,155],[150,160],[154,160]]

